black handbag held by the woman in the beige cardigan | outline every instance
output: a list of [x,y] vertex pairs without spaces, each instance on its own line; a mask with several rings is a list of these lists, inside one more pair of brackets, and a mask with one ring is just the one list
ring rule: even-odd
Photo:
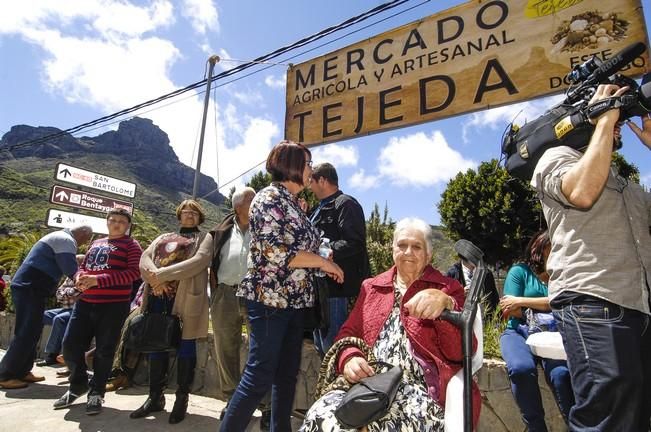
[[129,322],[124,345],[141,353],[176,351],[181,343],[181,327],[176,315],[145,311]]

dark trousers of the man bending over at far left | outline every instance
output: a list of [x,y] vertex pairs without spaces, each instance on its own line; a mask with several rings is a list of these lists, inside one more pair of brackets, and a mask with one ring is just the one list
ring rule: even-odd
[[[56,286],[56,282],[54,282]],[[23,378],[34,365],[36,345],[43,331],[43,312],[48,288],[38,284],[11,285],[16,310],[14,337],[0,362],[0,380]]]

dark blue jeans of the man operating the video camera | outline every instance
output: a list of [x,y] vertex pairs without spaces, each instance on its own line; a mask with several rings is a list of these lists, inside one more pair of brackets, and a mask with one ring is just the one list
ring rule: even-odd
[[647,432],[651,416],[649,315],[590,296],[553,312],[563,335],[576,398],[570,430]]

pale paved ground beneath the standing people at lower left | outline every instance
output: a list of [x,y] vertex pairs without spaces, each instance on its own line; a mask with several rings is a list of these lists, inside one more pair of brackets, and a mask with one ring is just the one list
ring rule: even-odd
[[[4,351],[0,350],[0,357]],[[104,409],[99,415],[85,413],[86,397],[68,409],[53,410],[52,403],[67,390],[65,378],[57,378],[56,368],[37,367],[32,372],[44,375],[45,381],[30,384],[18,390],[0,389],[0,431],[1,432],[129,432],[129,431],[217,431],[219,414],[224,402],[203,396],[190,395],[188,416],[181,423],[170,425],[167,421],[174,404],[174,390],[167,391],[166,412],[132,420],[129,413],[138,408],[147,398],[147,387],[132,387],[106,394]],[[260,412],[256,411],[249,425],[249,432],[259,431]],[[294,419],[294,430],[300,420]]]

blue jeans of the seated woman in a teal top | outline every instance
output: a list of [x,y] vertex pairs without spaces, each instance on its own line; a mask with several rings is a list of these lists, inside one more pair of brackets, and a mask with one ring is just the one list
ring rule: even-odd
[[[526,329],[526,327],[524,327]],[[547,384],[552,389],[561,415],[567,422],[574,404],[570,373],[563,360],[534,356],[526,344],[526,330],[506,329],[500,337],[502,357],[511,380],[511,392],[520,408],[522,420],[531,432],[547,431],[545,410],[538,387],[538,362],[545,372]]]

